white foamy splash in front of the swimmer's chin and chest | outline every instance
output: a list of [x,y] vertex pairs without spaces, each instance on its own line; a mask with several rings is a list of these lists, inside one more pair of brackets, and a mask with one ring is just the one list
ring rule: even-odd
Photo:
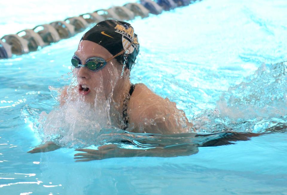
[[[49,87],[52,97],[62,106],[56,107],[49,114],[42,112],[34,124],[43,142],[53,141],[59,146],[80,148],[96,143],[102,128],[108,128],[109,99],[99,97],[94,104],[84,101],[84,97],[77,91],[75,75],[71,84],[64,89]],[[67,91],[63,97],[61,92]],[[103,94],[98,91],[98,96]],[[61,97],[62,96],[62,97]]]

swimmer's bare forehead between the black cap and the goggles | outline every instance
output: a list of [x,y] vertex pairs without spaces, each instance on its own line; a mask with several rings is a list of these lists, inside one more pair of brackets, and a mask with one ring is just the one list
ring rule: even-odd
[[80,58],[81,61],[86,61],[88,58],[101,57],[105,60],[111,58],[113,55],[103,46],[88,40],[82,40],[79,43],[78,49],[75,55]]

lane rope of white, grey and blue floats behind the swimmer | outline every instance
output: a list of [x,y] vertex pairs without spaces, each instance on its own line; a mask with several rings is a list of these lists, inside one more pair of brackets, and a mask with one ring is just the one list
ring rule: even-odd
[[[38,25],[33,29],[25,29],[16,34],[4,35],[0,39],[0,59],[11,58],[13,54],[21,55],[36,51],[67,39],[84,31],[90,24],[106,19],[127,21],[148,17],[149,14],[161,14],[176,7],[187,6],[196,0],[140,0],[138,3],[127,3],[123,6],[114,6],[109,9],[96,10],[80,16],[70,17],[64,21],[55,21],[50,24]],[[200,1],[200,0],[198,0]]]

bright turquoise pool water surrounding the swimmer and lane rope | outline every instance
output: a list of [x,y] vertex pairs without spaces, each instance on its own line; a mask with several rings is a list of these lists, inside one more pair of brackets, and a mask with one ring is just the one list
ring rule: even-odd
[[[0,36],[125,2],[1,2]],[[203,0],[134,19],[141,48],[131,81],[176,102],[202,133],[284,125],[286,10],[284,0]],[[50,89],[70,83],[81,36],[0,60],[0,194],[287,194],[284,131],[174,158],[74,162],[72,148],[28,154],[41,143],[39,114],[58,105]]]

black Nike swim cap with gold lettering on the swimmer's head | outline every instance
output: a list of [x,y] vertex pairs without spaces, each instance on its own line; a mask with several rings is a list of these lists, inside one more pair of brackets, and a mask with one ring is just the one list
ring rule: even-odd
[[[138,35],[134,28],[123,21],[104,20],[88,30],[81,40],[88,40],[106,48],[112,55],[126,49],[122,55],[115,57],[118,62],[131,69],[139,52]],[[129,47],[129,48],[128,48]]]

